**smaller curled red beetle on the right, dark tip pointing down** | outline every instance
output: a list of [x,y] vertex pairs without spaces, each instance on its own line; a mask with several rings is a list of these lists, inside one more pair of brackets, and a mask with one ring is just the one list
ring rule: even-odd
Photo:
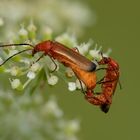
[[106,68],[99,68],[99,70],[106,70],[104,78],[97,82],[97,84],[101,84],[102,91],[94,95],[93,91],[88,90],[85,94],[85,98],[91,104],[99,105],[101,110],[107,113],[112,103],[112,96],[115,93],[117,83],[119,82],[120,70],[118,63],[112,58],[102,56],[102,59],[98,64],[107,65]]

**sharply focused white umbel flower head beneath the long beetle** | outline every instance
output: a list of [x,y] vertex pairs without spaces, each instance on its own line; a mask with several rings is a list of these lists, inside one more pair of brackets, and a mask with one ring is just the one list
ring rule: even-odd
[[[32,32],[36,36],[38,27],[35,26],[33,21],[29,24],[32,25],[28,25],[27,28],[21,26],[19,35],[14,37],[13,43],[24,42],[25,40],[26,42],[29,42],[29,32]],[[28,31],[29,26],[33,26],[33,28],[30,28],[30,31]],[[52,31],[52,29],[49,29],[49,27],[47,28],[48,30]],[[38,39],[34,38],[35,36],[33,36],[32,39],[36,44],[38,42]],[[47,33],[47,37],[53,38],[52,36],[54,36],[52,32]],[[42,38],[44,37],[42,36]],[[46,40],[48,39],[46,38]],[[66,32],[58,36],[54,36],[54,40],[68,46],[71,49],[76,47],[79,50],[79,53],[81,53],[85,57],[88,57],[89,59],[91,59],[91,61],[95,59],[101,59],[101,55],[99,53],[101,51],[101,47],[99,47],[98,49],[97,44],[94,45],[94,42],[91,40],[89,40],[89,42],[87,43],[78,43],[77,38],[74,35]],[[7,57],[19,52],[21,49],[28,49],[28,47],[29,46],[13,46],[4,48],[1,51],[1,62],[2,60],[4,61]],[[58,83],[59,78],[61,77],[63,77],[63,79],[65,79],[65,81],[67,82],[68,89],[70,91],[81,89],[79,82],[77,82],[78,80],[76,76],[70,68],[65,68],[62,64],[57,62],[57,60],[55,60],[54,65],[54,62],[48,56],[44,56],[40,61],[35,62],[40,57],[40,55],[40,53],[37,53],[34,57],[32,57],[31,51],[25,52],[10,59],[5,65],[0,67],[1,71],[9,74],[9,80],[13,89],[24,90],[29,87],[31,90],[32,88],[35,88],[34,83],[36,83],[36,86],[38,87],[42,85],[42,81],[44,84],[48,83],[48,85],[50,86],[55,86]],[[105,55],[107,56],[108,53],[106,53]],[[57,69],[52,73],[56,65]],[[30,86],[28,86],[29,84]]]

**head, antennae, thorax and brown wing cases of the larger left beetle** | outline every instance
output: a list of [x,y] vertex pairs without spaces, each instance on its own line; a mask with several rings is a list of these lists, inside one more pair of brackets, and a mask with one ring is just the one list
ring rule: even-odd
[[[68,67],[70,67],[70,65],[72,63],[72,64],[76,64],[79,68],[81,68],[82,70],[85,70],[85,71],[95,71],[95,69],[96,69],[95,63],[88,60],[86,57],[77,53],[73,49],[67,48],[63,44],[58,43],[56,41],[48,40],[48,41],[41,42],[35,46],[28,44],[28,43],[23,43],[23,44],[0,45],[0,47],[23,46],[23,45],[28,45],[28,46],[32,47],[33,49],[27,49],[27,50],[18,52],[16,54],[14,54],[13,56],[9,57],[8,60],[20,53],[32,50],[33,56],[37,52],[43,52],[43,55],[41,57],[43,57],[44,55],[48,55],[48,56],[50,56],[50,58],[57,59],[58,61],[60,61],[61,63],[63,63],[64,65],[66,65]],[[38,60],[40,60],[40,58]],[[5,60],[4,63],[6,63],[8,60]],[[1,65],[3,65],[3,63]]]

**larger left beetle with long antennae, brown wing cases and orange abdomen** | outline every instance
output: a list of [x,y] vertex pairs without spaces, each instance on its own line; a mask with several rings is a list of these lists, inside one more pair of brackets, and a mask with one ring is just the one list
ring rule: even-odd
[[[87,90],[92,90],[96,85],[96,64],[87,59],[86,57],[82,56],[74,49],[67,48],[63,44],[56,42],[56,41],[44,41],[37,45],[31,45],[28,43],[22,44],[6,44],[0,45],[0,47],[8,47],[8,46],[23,46],[28,45],[32,47],[32,49],[22,50],[9,58],[7,58],[0,66],[6,63],[12,57],[23,53],[25,51],[32,50],[32,56],[34,56],[38,52],[43,52],[42,56],[37,59],[39,61],[44,55],[48,55],[51,59],[56,59],[66,67],[70,67],[75,75],[78,77],[80,81],[86,85]],[[54,60],[52,61],[54,62]],[[55,64],[55,63],[54,63]],[[55,64],[57,67],[57,65]],[[55,68],[56,69],[56,68]],[[84,75],[84,76],[83,76]],[[88,79],[88,80],[87,80]]]

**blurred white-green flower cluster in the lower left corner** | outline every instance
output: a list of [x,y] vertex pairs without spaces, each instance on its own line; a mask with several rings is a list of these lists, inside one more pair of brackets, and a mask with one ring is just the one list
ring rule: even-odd
[[54,97],[1,91],[0,99],[0,139],[78,140],[79,120],[66,120]]

